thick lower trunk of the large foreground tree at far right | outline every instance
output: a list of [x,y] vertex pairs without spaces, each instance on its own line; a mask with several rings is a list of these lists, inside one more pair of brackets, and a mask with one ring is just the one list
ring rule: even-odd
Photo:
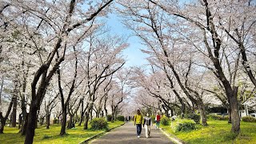
[[235,86],[233,95],[230,97],[230,108],[231,108],[231,131],[235,134],[240,133],[240,117],[238,114],[238,87]]

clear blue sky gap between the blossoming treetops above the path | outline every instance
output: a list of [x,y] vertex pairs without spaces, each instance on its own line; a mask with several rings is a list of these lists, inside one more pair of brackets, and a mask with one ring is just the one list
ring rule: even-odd
[[141,44],[141,40],[134,36],[132,30],[128,30],[121,22],[121,18],[118,18],[116,14],[109,14],[109,18],[106,19],[107,25],[110,27],[111,34],[123,35],[129,37],[128,43],[130,46],[124,50],[123,55],[126,57],[126,67],[129,66],[142,66],[147,63],[146,54],[143,54],[140,49],[145,47]]

